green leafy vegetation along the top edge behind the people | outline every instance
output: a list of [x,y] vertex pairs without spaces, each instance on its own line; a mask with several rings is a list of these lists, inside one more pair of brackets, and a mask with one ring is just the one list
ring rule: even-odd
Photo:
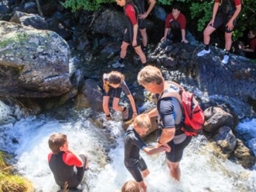
[[[198,31],[203,31],[207,23],[211,20],[214,0],[177,0],[182,4],[182,10],[187,16],[188,23],[195,21]],[[62,5],[71,8],[73,12],[78,9],[87,11],[98,10],[101,4],[115,3],[115,0],[66,0]],[[157,0],[158,4],[171,5],[172,0]],[[109,5],[107,5],[109,6]],[[191,19],[190,19],[191,18]],[[247,29],[255,28],[256,23],[256,1],[242,0],[242,11],[238,16],[234,30],[233,39],[243,36]]]

